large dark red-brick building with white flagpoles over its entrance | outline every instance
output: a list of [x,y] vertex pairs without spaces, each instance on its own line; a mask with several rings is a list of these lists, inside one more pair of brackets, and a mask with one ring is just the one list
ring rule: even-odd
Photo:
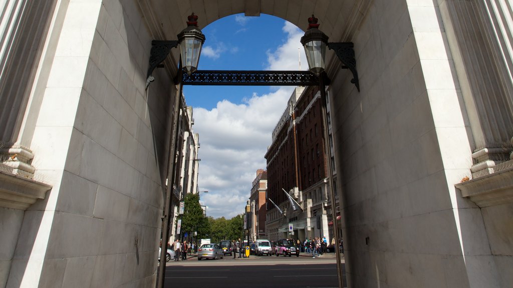
[[[271,199],[267,203],[267,220],[271,224],[267,233],[272,240],[293,238],[303,242],[313,237],[332,238],[320,105],[318,87],[298,87],[274,128],[266,154]],[[291,201],[297,201],[295,210]]]

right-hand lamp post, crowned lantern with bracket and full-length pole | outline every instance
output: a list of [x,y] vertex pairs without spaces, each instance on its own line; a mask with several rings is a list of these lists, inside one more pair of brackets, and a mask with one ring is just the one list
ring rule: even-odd
[[[324,150],[327,157],[327,168],[329,173],[329,196],[331,198],[331,213],[333,214],[333,236],[335,238],[335,243],[339,243],[339,221],[337,220],[337,210],[335,203],[335,194],[333,191],[333,167],[331,167],[331,149],[329,147],[329,135],[328,135],[328,117],[326,113],[326,88],[324,86],[324,76],[325,74],[325,57],[326,57],[326,47],[330,49],[334,49],[339,59],[342,61],[344,66],[342,68],[349,68],[353,73],[353,79],[351,83],[353,83],[358,91],[360,91],[360,86],[358,82],[358,73],[356,71],[356,60],[354,59],[354,50],[353,44],[346,43],[328,43],[328,36],[320,31],[319,24],[317,24],[318,19],[315,16],[311,16],[308,18],[308,30],[305,32],[305,35],[301,37],[301,44],[305,48],[306,59],[308,61],[309,70],[312,73],[319,75],[319,90],[321,92],[321,114],[323,120],[323,137],[324,137]],[[339,249],[335,249],[337,255],[337,274],[339,279],[339,288],[343,287],[343,275],[342,275],[342,264],[340,262],[340,251]]]

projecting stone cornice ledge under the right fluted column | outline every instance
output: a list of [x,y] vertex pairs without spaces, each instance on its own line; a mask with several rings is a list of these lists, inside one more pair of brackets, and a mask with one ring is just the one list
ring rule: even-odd
[[479,207],[513,203],[513,168],[455,185],[463,197]]

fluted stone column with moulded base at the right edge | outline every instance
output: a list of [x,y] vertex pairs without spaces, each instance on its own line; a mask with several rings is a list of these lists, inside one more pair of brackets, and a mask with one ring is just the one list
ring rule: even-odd
[[473,177],[509,160],[513,135],[511,3],[447,0],[465,75],[459,75],[473,140]]

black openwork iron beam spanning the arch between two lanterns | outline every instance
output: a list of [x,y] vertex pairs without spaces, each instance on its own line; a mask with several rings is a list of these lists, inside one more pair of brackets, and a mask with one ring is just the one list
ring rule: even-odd
[[319,77],[308,71],[199,70],[190,75],[184,73],[182,85],[317,86]]

